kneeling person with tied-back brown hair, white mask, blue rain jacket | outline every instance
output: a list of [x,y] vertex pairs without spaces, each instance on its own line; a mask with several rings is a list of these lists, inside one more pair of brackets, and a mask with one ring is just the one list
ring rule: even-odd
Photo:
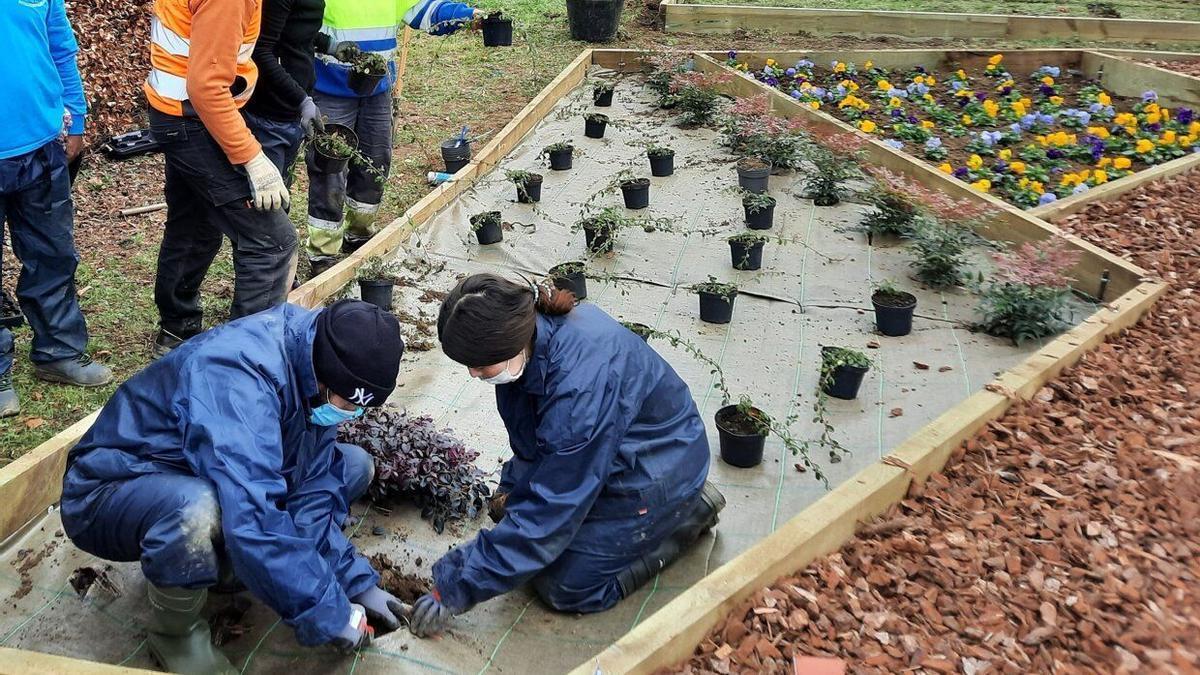
[[704,424],[688,386],[637,335],[565,291],[492,274],[442,303],[438,339],[496,384],[514,456],[497,526],[433,566],[413,605],[425,637],[532,581],[551,608],[604,611],[716,524]]

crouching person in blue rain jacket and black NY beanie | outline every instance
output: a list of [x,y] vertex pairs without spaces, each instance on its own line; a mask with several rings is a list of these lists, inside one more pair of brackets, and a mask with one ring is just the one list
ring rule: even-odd
[[148,644],[173,673],[230,665],[200,617],[239,581],[304,645],[342,650],[407,610],[342,533],[373,476],[336,424],[382,405],[403,341],[394,316],[342,300],[281,305],[188,340],[124,383],[67,456],[62,525],[80,549],[142,561]]

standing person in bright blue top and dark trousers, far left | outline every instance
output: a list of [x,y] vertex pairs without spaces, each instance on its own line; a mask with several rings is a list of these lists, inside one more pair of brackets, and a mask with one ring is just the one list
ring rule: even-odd
[[[84,352],[76,298],[74,214],[67,165],[83,151],[83,83],[64,0],[0,4],[0,245],[5,223],[20,261],[17,299],[34,331],[34,375],[100,387],[113,378]],[[0,263],[2,264],[2,263]],[[12,331],[0,327],[0,417],[20,412]]]

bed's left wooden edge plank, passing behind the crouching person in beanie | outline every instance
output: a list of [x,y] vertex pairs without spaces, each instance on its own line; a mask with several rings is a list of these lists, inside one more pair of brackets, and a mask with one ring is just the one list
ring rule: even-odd
[[[408,241],[419,227],[451,199],[470,189],[553,108],[564,94],[583,82],[592,65],[592,49],[584,49],[538,96],[484,145],[454,179],[439,185],[402,216],[384,227],[366,245],[346,259],[310,280],[288,295],[288,301],[316,307],[354,280],[359,267],[371,256],[382,256]],[[76,422],[12,464],[0,468],[0,543],[17,533],[59,501],[67,452],[96,422],[100,411]]]

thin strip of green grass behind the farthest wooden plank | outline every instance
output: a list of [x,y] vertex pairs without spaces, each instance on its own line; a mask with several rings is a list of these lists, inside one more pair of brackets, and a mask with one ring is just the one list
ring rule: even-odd
[[[761,5],[814,10],[894,10],[974,14],[1036,14],[1051,17],[1096,16],[1088,5],[1097,0],[690,0],[700,5]],[[1195,0],[1099,0],[1126,19],[1200,20]]]

